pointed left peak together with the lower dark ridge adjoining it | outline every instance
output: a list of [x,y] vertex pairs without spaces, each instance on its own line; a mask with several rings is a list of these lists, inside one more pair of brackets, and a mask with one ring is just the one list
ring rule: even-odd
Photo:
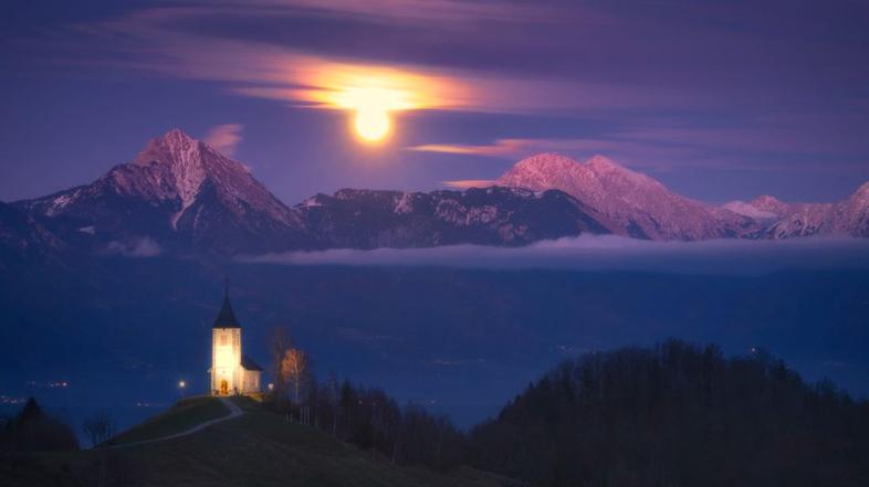
[[77,248],[126,255],[521,245],[611,226],[567,194],[524,189],[345,189],[291,209],[241,163],[178,129],[91,184],[15,207]]

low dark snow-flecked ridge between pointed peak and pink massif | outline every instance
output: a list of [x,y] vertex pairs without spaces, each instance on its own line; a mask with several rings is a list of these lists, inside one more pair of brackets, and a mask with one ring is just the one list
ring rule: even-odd
[[579,233],[610,233],[594,210],[561,191],[514,188],[400,192],[344,189],[294,207],[328,247],[522,245]]

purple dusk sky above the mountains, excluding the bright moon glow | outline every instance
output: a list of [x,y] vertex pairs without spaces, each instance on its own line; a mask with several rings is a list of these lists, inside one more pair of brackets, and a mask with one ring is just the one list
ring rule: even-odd
[[[868,60],[859,0],[8,0],[0,200],[91,181],[171,127],[291,204],[492,179],[544,150],[704,201],[837,200],[869,179]],[[449,96],[360,145],[300,94],[359,66]]]

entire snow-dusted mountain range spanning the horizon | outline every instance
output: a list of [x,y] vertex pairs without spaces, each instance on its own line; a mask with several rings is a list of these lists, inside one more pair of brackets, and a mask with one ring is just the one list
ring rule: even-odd
[[[488,188],[343,189],[287,207],[241,163],[179,129],[96,181],[0,203],[8,257],[238,255],[336,247],[525,245],[583,233],[646,240],[869,236],[869,182],[837,203],[768,195],[715,207],[596,156],[541,153]],[[7,255],[8,254],[8,255]]]

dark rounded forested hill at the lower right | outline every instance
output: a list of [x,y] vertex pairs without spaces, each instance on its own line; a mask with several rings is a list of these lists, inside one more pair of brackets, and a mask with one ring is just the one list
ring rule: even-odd
[[679,341],[565,361],[470,444],[474,466],[524,485],[869,485],[867,402],[762,350]]

